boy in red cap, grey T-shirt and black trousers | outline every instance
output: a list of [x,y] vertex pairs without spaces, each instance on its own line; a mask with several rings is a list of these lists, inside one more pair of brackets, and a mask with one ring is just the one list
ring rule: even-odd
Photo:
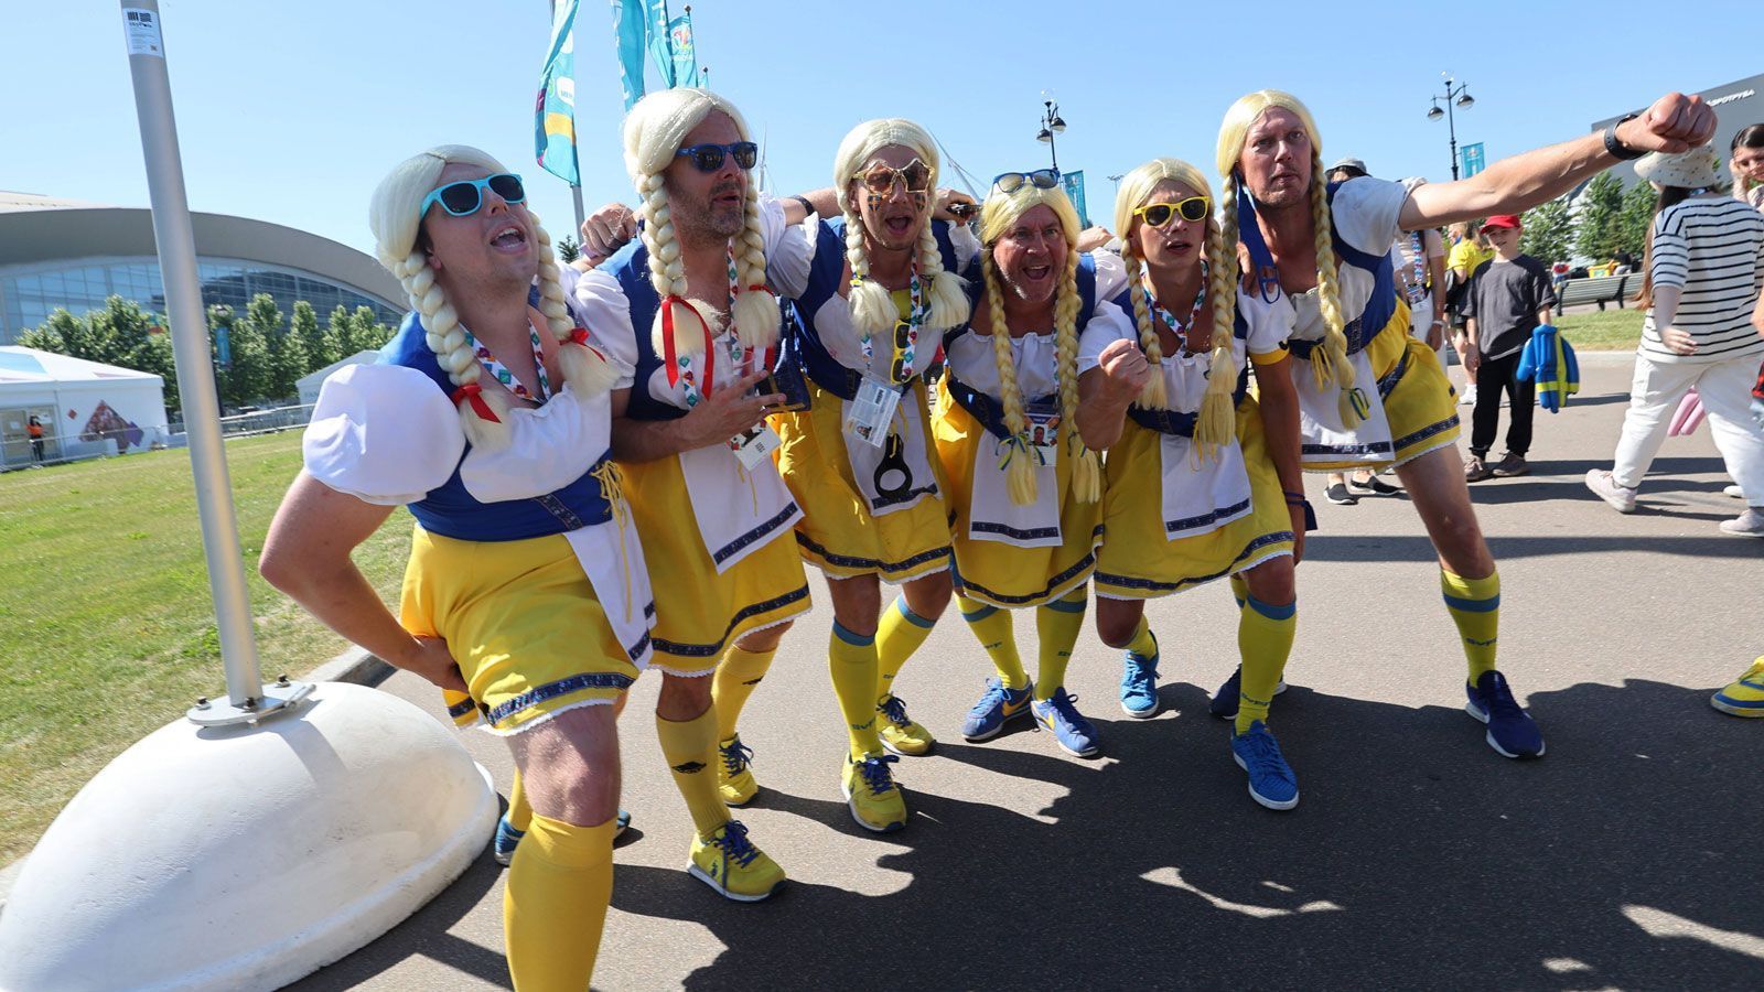
[[[1494,259],[1469,277],[1459,311],[1464,314],[1468,337],[1464,367],[1475,371],[1478,381],[1489,387],[1476,395],[1471,415],[1464,482],[1531,471],[1526,452],[1531,450],[1531,417],[1536,408],[1533,385],[1519,381],[1519,353],[1538,325],[1551,323],[1556,288],[1549,267],[1519,252],[1521,231],[1517,214],[1496,214],[1484,222],[1482,233],[1494,245]],[[1487,457],[1501,424],[1503,390],[1512,406],[1506,457],[1491,466]]]

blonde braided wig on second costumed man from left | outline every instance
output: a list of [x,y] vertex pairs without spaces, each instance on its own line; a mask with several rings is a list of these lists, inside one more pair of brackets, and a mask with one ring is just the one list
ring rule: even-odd
[[[686,263],[679,254],[667,184],[662,177],[674,164],[674,154],[686,141],[686,134],[713,111],[727,115],[741,139],[750,139],[748,122],[736,104],[709,90],[674,88],[649,94],[637,101],[624,118],[624,169],[632,173],[637,196],[644,199],[649,284],[662,297],[649,332],[658,355],[667,348],[662,332],[665,319],[674,325],[674,348],[681,355],[704,351],[704,339],[697,334],[699,321],[704,321],[704,330],[713,337],[720,332],[716,311],[704,300],[686,297]],[[729,300],[729,316],[736,321],[736,337],[746,348],[767,348],[778,341],[778,298],[766,288],[766,235],[760,229],[760,191],[753,177],[748,177],[746,222],[732,249],[739,286]],[[697,319],[688,307],[697,311]]]

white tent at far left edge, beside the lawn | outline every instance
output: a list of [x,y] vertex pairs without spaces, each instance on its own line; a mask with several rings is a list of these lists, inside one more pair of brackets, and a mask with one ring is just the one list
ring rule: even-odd
[[166,383],[152,372],[0,346],[0,466],[28,464],[30,418],[44,459],[145,452],[166,440]]

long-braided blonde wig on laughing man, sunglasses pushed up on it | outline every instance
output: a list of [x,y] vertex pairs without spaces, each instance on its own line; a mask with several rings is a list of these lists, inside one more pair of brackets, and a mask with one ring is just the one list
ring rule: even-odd
[[[991,318],[993,360],[998,365],[998,399],[1004,406],[1004,424],[1013,438],[1021,438],[1028,429],[1023,415],[1023,392],[1016,385],[1016,362],[1011,357],[1011,325],[1004,316],[1004,281],[998,275],[998,263],[993,259],[993,245],[1011,229],[1023,214],[1035,207],[1048,207],[1060,221],[1060,233],[1065,237],[1065,270],[1060,274],[1060,286],[1053,295],[1053,344],[1055,344],[1055,381],[1060,390],[1060,443],[1076,447],[1073,462],[1073,491],[1083,503],[1095,503],[1102,498],[1102,462],[1095,452],[1083,445],[1078,436],[1078,309],[1083,298],[1078,295],[1078,210],[1065,198],[1065,191],[1039,189],[1025,182],[1013,192],[1000,192],[993,187],[986,203],[981,205],[981,274],[986,279],[986,300]],[[1035,466],[1028,464],[1028,452],[1014,445],[1007,462],[1007,489],[1011,501],[1021,507],[1035,501]]]

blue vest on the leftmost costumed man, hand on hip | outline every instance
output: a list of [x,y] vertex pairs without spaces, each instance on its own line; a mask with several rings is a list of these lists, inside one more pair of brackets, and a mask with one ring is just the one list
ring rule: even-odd
[[[429,349],[416,312],[406,314],[399,334],[379,349],[379,364],[416,369],[429,376],[445,395],[453,395],[453,381],[441,371],[436,353]],[[460,462],[464,461],[460,455]],[[603,461],[607,461],[605,454],[600,455],[594,468],[600,468]],[[526,540],[605,522],[612,519],[612,507],[600,492],[600,480],[594,478],[593,470],[547,496],[480,503],[471,492],[466,492],[466,484],[459,478],[459,466],[453,466],[453,475],[439,489],[411,503],[411,515],[423,524],[425,531],[457,540]]]

